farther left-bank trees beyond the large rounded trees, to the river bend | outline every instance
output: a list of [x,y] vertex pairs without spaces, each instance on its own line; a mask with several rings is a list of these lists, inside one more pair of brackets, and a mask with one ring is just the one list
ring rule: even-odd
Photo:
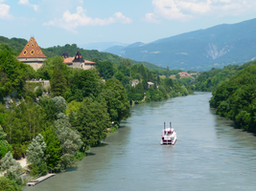
[[[191,78],[172,79],[169,76],[162,78],[159,76],[161,71],[150,70],[142,64],[132,65],[129,59],[122,60],[119,65],[95,58],[93,61],[97,63],[97,70],[105,79],[114,77],[122,82],[130,103],[161,101],[175,96],[187,96],[194,91],[194,85],[190,83]],[[176,73],[177,71],[168,70],[168,74]],[[132,85],[132,81],[136,83]]]

